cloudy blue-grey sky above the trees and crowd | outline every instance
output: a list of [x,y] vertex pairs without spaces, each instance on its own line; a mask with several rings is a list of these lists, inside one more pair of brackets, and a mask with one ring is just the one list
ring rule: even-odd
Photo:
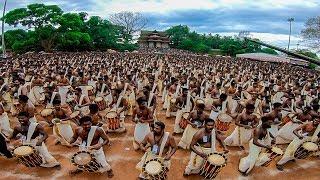
[[179,24],[199,33],[235,35],[246,30],[281,47],[287,46],[287,19],[293,17],[292,48],[303,46],[299,35],[305,21],[320,15],[320,0],[8,0],[7,11],[30,3],[57,4],[65,12],[86,11],[104,18],[121,11],[141,12],[150,30]]

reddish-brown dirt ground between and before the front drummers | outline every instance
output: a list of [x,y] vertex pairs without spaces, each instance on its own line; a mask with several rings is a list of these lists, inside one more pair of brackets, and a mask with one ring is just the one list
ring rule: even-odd
[[[157,117],[159,120],[165,122],[166,131],[173,132],[174,118],[166,119],[164,111],[158,110]],[[17,123],[16,119],[12,119],[13,124]],[[133,132],[134,123],[126,119],[127,132],[124,134],[108,134],[111,139],[111,146],[105,146],[104,151],[109,164],[114,171],[114,180],[131,180],[137,179],[139,171],[135,169],[136,164],[140,161],[143,152],[136,152],[133,150]],[[234,129],[234,126],[228,131],[228,135]],[[71,164],[71,156],[77,152],[78,148],[67,148],[61,145],[54,144],[54,137],[52,136],[52,128],[46,128],[49,133],[49,138],[46,145],[51,154],[61,163],[61,169],[47,169],[47,168],[27,168],[18,164],[14,159],[5,159],[0,157],[0,179],[108,179],[106,175],[95,173],[80,173],[74,177],[69,176],[68,172],[75,167]],[[175,136],[178,143],[181,135]],[[282,147],[284,150],[285,147]],[[245,180],[245,179],[320,179],[320,161],[319,158],[310,157],[305,160],[297,160],[296,163],[290,162],[285,166],[284,171],[278,171],[273,161],[268,167],[254,167],[252,172],[243,177],[238,172],[238,163],[241,157],[247,155],[246,150],[241,151],[239,148],[229,148],[227,166],[222,169],[216,179],[230,179],[230,180]],[[203,179],[201,176],[192,175],[183,177],[184,169],[189,161],[190,151],[177,150],[171,160],[171,168],[168,172],[169,180],[196,180]]]

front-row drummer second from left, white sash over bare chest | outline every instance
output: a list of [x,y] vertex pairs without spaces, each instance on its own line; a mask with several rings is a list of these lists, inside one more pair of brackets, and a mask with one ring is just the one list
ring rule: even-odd
[[[113,177],[111,166],[106,161],[106,157],[103,152],[103,146],[109,143],[109,138],[106,133],[98,126],[92,126],[92,119],[90,116],[84,116],[80,120],[80,126],[76,129],[71,141],[71,145],[75,145],[75,141],[80,137],[82,143],[80,150],[90,151],[98,163],[101,165],[99,171],[101,173],[107,172],[109,178]],[[80,169],[71,171],[72,175],[82,172]]]

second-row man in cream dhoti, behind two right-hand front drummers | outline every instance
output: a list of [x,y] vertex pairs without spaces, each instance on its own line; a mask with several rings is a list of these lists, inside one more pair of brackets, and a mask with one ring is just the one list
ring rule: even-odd
[[259,124],[259,119],[256,115],[252,114],[254,111],[253,104],[247,104],[245,112],[240,114],[236,121],[236,128],[225,140],[224,143],[227,146],[240,146],[243,149],[243,145],[248,143],[252,138],[252,132]]

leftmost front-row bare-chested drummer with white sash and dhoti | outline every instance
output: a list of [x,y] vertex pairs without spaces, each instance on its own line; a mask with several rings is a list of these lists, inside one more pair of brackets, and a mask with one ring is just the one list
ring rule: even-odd
[[[15,145],[32,145],[40,153],[43,163],[42,167],[59,167],[60,163],[49,153],[44,141],[48,138],[48,134],[44,131],[43,127],[29,120],[30,115],[28,112],[20,112],[18,120],[20,125],[16,126],[13,130],[11,138],[15,138]],[[19,136],[21,135],[21,136]]]

